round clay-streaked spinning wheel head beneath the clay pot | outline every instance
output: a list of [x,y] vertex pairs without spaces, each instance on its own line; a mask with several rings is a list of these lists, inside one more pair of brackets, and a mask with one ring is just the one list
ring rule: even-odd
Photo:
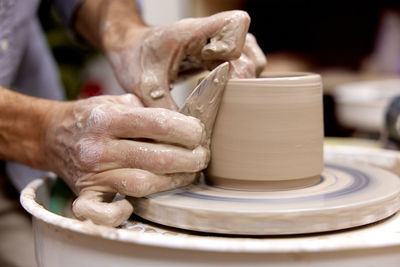
[[302,234],[382,220],[400,208],[400,179],[370,167],[326,163],[309,186],[246,191],[207,185],[134,199],[147,220],[201,232],[241,235]]

